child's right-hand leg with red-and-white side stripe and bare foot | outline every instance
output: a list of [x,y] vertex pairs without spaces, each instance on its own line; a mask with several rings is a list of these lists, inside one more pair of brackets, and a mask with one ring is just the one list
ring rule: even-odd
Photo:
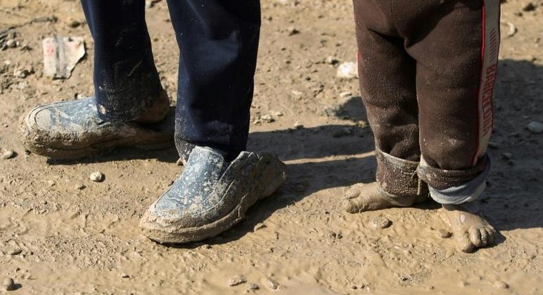
[[469,252],[494,240],[494,228],[468,207],[483,193],[490,167],[485,150],[492,130],[499,1],[428,4],[424,14],[400,25],[406,49],[417,60],[419,176],[443,204],[458,248]]

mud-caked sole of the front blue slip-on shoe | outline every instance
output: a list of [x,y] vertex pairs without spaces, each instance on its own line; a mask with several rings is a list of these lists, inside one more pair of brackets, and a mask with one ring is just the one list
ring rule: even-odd
[[[261,161],[267,161],[264,157],[261,158]],[[147,211],[140,222],[142,234],[160,244],[185,244],[208,239],[227,231],[243,220],[245,212],[254,203],[271,196],[285,182],[287,178],[287,165],[277,158],[273,159],[273,161],[276,161],[276,163],[267,165],[263,173],[258,176],[258,180],[254,182],[256,184],[265,184],[265,187],[253,187],[251,192],[243,196],[239,204],[221,219],[204,224],[203,226],[190,228],[176,226],[162,227],[153,222],[154,218]]]

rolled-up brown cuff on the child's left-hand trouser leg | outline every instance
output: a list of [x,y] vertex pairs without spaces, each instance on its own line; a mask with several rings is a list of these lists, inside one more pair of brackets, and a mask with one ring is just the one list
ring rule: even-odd
[[427,185],[419,178],[419,162],[397,158],[375,150],[377,183],[381,189],[395,196],[422,196],[428,194]]

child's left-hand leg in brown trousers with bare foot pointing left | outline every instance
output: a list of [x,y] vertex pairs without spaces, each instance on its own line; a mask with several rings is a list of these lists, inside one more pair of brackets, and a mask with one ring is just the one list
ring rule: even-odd
[[389,1],[355,0],[360,88],[375,135],[377,182],[354,185],[344,209],[355,213],[405,207],[428,195],[420,160],[416,62],[403,48]]

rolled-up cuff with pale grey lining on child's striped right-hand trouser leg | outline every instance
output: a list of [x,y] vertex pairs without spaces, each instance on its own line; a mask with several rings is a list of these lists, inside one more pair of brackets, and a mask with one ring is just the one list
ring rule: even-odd
[[[446,174],[449,178],[451,178],[452,175],[456,175],[458,178],[465,180],[467,176],[472,176],[474,171],[477,171],[477,169],[482,167],[483,171],[476,174],[471,180],[461,183],[458,183],[458,181],[451,181],[451,185],[446,188],[432,187],[432,180],[430,180],[430,182],[427,181],[432,199],[440,204],[463,204],[465,202],[473,202],[474,200],[477,200],[487,187],[487,176],[491,168],[490,158],[488,158],[488,156],[485,156],[483,161],[480,162],[482,162],[483,165],[478,163],[478,165],[474,167],[476,168],[475,170],[442,170],[443,174]],[[432,170],[435,176],[436,168],[430,167],[422,158],[419,166],[419,176],[421,176],[421,178],[431,179],[432,175],[424,174],[425,172],[428,173],[429,170]],[[430,176],[430,178],[428,176]],[[445,178],[442,177],[440,179],[441,182],[443,182],[443,179]],[[438,182],[438,184],[443,187],[444,184],[441,182]]]

